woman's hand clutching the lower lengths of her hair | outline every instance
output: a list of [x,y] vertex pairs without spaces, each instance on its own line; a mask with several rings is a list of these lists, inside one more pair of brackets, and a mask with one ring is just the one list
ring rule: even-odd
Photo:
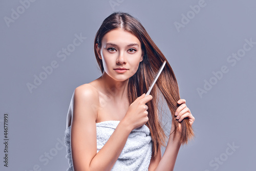
[[181,105],[177,108],[175,112],[176,119],[178,119],[179,122],[181,122],[184,118],[187,117],[190,125],[192,125],[193,122],[195,121],[195,117],[191,114],[190,110],[187,108],[186,100],[179,99],[177,103]]

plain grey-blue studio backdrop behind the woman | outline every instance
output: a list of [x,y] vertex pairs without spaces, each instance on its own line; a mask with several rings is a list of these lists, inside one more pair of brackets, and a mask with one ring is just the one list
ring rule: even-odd
[[[71,96],[76,87],[101,75],[94,36],[103,19],[119,10],[138,18],[163,52],[176,74],[181,98],[196,118],[196,138],[180,148],[175,170],[254,169],[256,45],[242,49],[245,39],[256,42],[255,1],[205,0],[194,16],[190,6],[200,4],[198,0],[35,1],[27,8],[20,7],[21,2],[0,2],[0,170],[68,168],[60,142]],[[19,10],[18,17],[11,16],[12,9]],[[182,24],[182,14],[190,19],[185,24],[183,20],[178,31],[175,22]],[[7,17],[15,18],[9,27]],[[72,47],[80,33],[87,38],[65,60],[59,58],[58,51]],[[228,62],[232,53],[242,56],[236,65]],[[30,92],[27,83],[33,84],[34,75],[52,61],[58,67]],[[212,72],[223,66],[228,72],[217,79]],[[204,89],[205,80],[213,85],[200,96],[198,88]],[[3,162],[5,113],[8,168]],[[232,150],[228,144],[236,147]]]

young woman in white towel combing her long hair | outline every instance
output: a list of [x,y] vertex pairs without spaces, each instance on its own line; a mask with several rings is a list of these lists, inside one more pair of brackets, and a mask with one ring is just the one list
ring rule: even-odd
[[[180,99],[164,55],[140,22],[122,12],[105,18],[94,52],[102,76],[73,93],[65,132],[68,170],[173,170],[181,144],[194,136],[195,118]],[[151,95],[145,97],[164,60]],[[173,117],[163,157],[160,93]]]

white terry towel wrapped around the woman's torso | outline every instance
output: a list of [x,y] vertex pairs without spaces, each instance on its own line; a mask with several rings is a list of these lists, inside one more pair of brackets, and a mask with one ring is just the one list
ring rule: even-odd
[[[103,121],[96,123],[97,129],[97,153],[109,140],[120,121]],[[66,158],[69,162],[67,171],[73,171],[73,162],[70,145],[70,126],[65,131]],[[152,138],[150,130],[143,125],[131,132],[123,150],[112,170],[148,170],[152,156]]]

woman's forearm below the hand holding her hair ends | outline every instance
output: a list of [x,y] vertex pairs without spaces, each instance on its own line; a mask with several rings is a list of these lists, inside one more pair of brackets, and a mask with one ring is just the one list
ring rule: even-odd
[[[170,132],[173,132],[173,128],[174,126],[172,126]],[[173,140],[173,134],[170,135],[163,157],[155,170],[174,170],[180,146],[181,143],[179,142],[179,136]]]

